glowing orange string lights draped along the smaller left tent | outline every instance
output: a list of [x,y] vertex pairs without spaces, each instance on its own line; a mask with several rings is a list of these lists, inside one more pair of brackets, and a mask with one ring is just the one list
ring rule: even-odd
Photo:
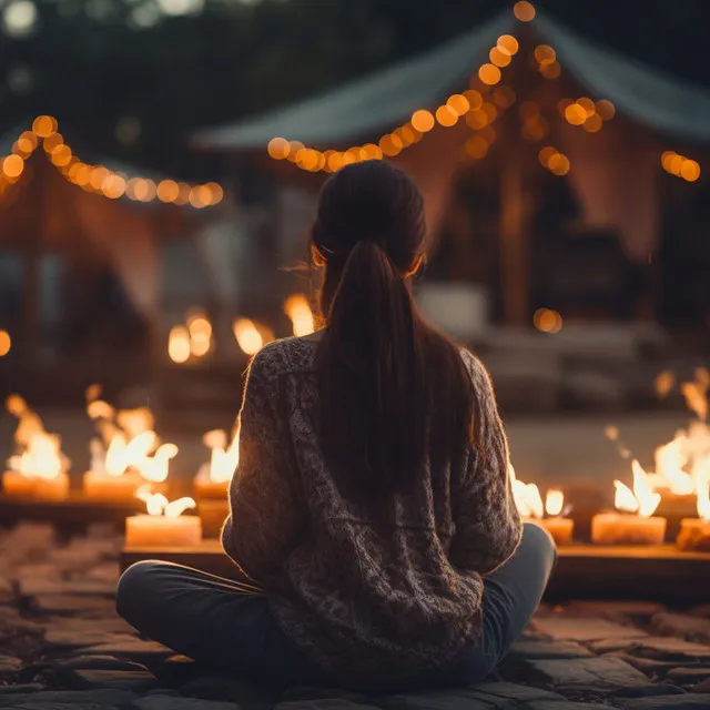
[[[159,185],[144,178],[131,178],[112,171],[104,165],[91,165],[82,162],[59,133],[57,119],[51,115],[38,115],[32,121],[32,130],[23,131],[12,145],[12,153],[0,158],[0,194],[7,184],[17,182],[24,172],[24,163],[39,148],[40,143],[50,162],[72,184],[87,192],[101,194],[110,200],[126,195],[131,200],[161,202],[176,205],[192,204],[207,207],[217,204],[224,197],[224,191],[217,183],[187,185],[173,180],[163,180]],[[192,197],[194,192],[194,199]]]

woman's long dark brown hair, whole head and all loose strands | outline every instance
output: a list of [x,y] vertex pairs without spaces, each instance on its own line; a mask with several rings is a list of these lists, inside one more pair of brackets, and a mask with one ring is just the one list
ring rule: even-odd
[[325,270],[323,449],[355,496],[402,489],[427,456],[445,465],[473,443],[460,348],[425,323],[409,291],[424,237],[422,194],[388,163],[348,165],[321,192],[313,254]]

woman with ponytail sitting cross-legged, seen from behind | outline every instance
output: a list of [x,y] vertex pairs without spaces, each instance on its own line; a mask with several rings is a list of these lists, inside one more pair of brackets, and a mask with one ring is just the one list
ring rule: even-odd
[[326,326],[248,372],[223,530],[244,580],[131,567],[118,608],[142,633],[251,680],[388,690],[477,681],[527,626],[555,546],[520,524],[486,371],[415,307],[424,235],[392,165],[327,181]]

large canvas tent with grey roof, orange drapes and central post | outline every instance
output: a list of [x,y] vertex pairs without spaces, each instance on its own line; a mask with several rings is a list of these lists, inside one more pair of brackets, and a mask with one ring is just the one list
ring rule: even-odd
[[[556,106],[567,92],[584,90],[594,100],[606,99],[616,106],[617,118],[594,134],[554,116],[557,112],[552,109],[547,115],[554,125],[546,141],[554,141],[570,160],[568,179],[585,222],[590,227],[613,230],[628,257],[646,262],[658,244],[661,153],[692,146],[688,150],[696,150],[698,155],[710,143],[710,91],[591,41],[542,12],[534,22],[521,24],[506,11],[442,47],[322,95],[253,119],[205,129],[194,136],[193,144],[200,150],[263,155],[274,136],[302,141],[320,150],[345,150],[366,140],[377,142],[379,134],[407,121],[414,111],[434,111],[448,94],[463,91],[481,62],[487,61],[497,38],[505,33],[519,39],[520,57],[529,57],[538,43],[549,44],[562,68],[559,81],[541,80],[534,89],[529,68],[516,59],[517,63],[504,70],[504,82],[518,97],[527,93],[541,105]],[[462,123],[450,129],[437,126],[394,159],[418,181],[434,232],[449,205],[462,170],[463,144],[470,135]],[[505,136],[499,138],[497,151],[501,163],[505,312],[508,322],[523,323],[528,318],[527,195],[534,192],[537,178],[525,165],[525,151],[520,148],[525,142],[519,138],[518,124],[506,119],[496,128]],[[535,150],[527,152],[536,154]],[[297,169],[288,168],[295,176]],[[536,169],[541,170],[539,165]]]

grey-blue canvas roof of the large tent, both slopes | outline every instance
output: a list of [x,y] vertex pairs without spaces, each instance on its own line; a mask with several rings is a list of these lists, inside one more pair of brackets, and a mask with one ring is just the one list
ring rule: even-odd
[[[204,150],[263,149],[283,135],[325,148],[389,130],[414,111],[435,108],[464,85],[497,38],[516,30],[510,12],[443,45],[296,104],[213,129],[193,144]],[[532,22],[557,51],[564,69],[596,98],[609,99],[629,118],[690,142],[710,143],[710,90],[693,87],[590,41],[549,16]]]

